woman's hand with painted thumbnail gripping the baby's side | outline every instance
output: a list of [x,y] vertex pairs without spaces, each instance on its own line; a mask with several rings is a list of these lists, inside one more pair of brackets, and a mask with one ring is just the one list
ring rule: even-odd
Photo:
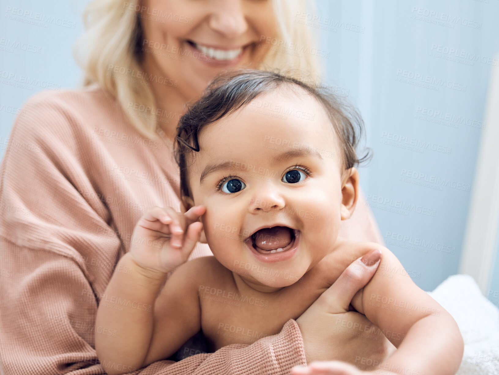
[[312,361],[340,360],[360,367],[363,366],[361,362],[366,361],[380,364],[393,353],[395,347],[385,336],[374,337],[364,333],[362,328],[375,327],[364,315],[349,311],[352,310],[350,302],[354,295],[376,272],[380,256],[379,250],[371,250],[352,262],[336,282],[296,320],[308,364]]

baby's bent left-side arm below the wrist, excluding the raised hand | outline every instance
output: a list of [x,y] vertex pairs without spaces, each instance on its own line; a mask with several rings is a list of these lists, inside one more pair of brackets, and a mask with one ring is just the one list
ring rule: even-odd
[[96,327],[107,328],[106,333],[115,333],[96,333],[95,337],[98,358],[109,375],[128,372],[117,371],[120,368],[140,369],[167,359],[199,332],[199,299],[190,285],[191,263],[194,261],[175,270],[160,293],[164,279],[145,274],[130,253],[119,260],[116,269],[131,270],[131,274],[115,272],[105,299],[117,301],[112,307],[119,307],[121,299],[123,311],[113,309],[103,298],[95,323]]

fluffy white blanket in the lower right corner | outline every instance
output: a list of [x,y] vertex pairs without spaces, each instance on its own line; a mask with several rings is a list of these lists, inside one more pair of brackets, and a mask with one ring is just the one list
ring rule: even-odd
[[499,309],[468,275],[453,275],[428,294],[456,320],[465,342],[457,375],[499,374]]

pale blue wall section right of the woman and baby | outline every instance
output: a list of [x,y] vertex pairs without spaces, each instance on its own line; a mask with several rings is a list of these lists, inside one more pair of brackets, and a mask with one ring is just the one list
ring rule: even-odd
[[[457,184],[473,184],[481,129],[471,125],[483,121],[490,63],[499,64],[492,59],[499,52],[499,1],[318,2],[318,14],[340,26],[321,33],[331,56],[326,76],[349,90],[374,151],[370,165],[360,170],[362,187],[387,247],[413,271],[416,284],[432,290],[458,272],[471,193]],[[469,20],[471,27],[463,24]],[[346,23],[364,32],[348,30]],[[437,150],[400,147],[411,146],[411,140]],[[422,177],[404,180],[404,171]],[[421,185],[425,178],[443,180],[444,186]],[[435,215],[388,211],[397,202]]]

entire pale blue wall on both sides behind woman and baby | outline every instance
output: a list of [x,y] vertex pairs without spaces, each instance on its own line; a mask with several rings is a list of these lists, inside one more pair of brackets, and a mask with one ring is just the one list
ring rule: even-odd
[[[80,71],[71,47],[82,31],[81,10],[85,3],[0,0],[0,75],[7,72],[17,74],[17,79],[26,75],[62,88],[76,87]],[[9,8],[30,13],[10,19]],[[53,17],[54,22],[74,22],[75,27],[25,22],[32,21],[36,13]],[[374,151],[372,162],[360,170],[364,192],[373,205],[387,246],[416,284],[432,290],[458,272],[470,192],[452,186],[416,184],[425,177],[409,177],[410,182],[405,182],[402,171],[413,171],[418,176],[421,173],[428,180],[438,178],[444,180],[444,185],[447,181],[472,185],[481,130],[467,122],[478,126],[483,121],[491,66],[488,58],[499,52],[499,0],[318,0],[316,13],[310,18],[322,18],[312,21],[310,27],[321,30],[321,48],[329,52],[329,57],[323,59],[327,82],[358,106],[366,122],[367,145]],[[441,22],[438,17],[448,19],[447,24],[437,24]],[[460,21],[454,21],[458,18]],[[468,20],[480,28],[462,24]],[[8,47],[11,43],[27,43],[39,53]],[[452,48],[464,57],[456,60],[454,54],[438,55],[439,48]],[[475,60],[477,55],[485,62]],[[404,77],[412,74],[419,78]],[[433,83],[426,88],[421,86],[421,80]],[[29,96],[44,89],[43,82],[26,89],[6,81],[17,83],[15,79],[1,78],[0,155],[14,119],[8,108],[19,108]],[[441,86],[444,81],[451,88]],[[441,115],[425,115],[425,110]],[[444,124],[435,122],[440,117]],[[450,120],[445,121],[446,117]],[[464,123],[459,122],[462,118]],[[395,135],[405,137],[409,146],[411,142],[426,142],[440,146],[440,151],[449,149],[450,153],[421,146],[418,148],[422,152],[404,149],[399,146],[407,146],[405,141],[389,139]],[[386,203],[377,203],[374,197]],[[410,209],[402,209],[401,213],[387,211],[397,205]],[[435,216],[418,213],[411,210],[413,207],[434,212]],[[410,244],[418,241],[430,243],[430,248]],[[498,273],[499,265],[496,285]]]

